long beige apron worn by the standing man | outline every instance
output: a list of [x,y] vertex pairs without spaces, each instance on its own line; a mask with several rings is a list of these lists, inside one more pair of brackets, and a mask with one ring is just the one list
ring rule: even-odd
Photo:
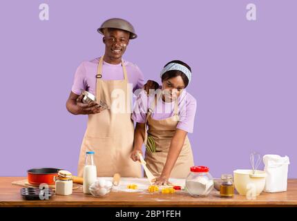
[[[133,162],[130,155],[133,150],[134,125],[131,120],[131,93],[128,91],[126,67],[123,80],[102,80],[103,56],[99,59],[97,68],[96,99],[100,99],[111,107],[115,104],[116,91],[124,92],[120,101],[124,101],[124,113],[115,113],[106,109],[101,113],[88,115],[88,125],[79,154],[77,175],[83,176],[86,151],[95,151],[94,159],[97,166],[97,176],[111,177],[119,173],[122,177],[141,177],[139,162]],[[107,73],[106,73],[107,74]],[[118,90],[119,89],[119,90]],[[122,93],[123,94],[123,93]]]

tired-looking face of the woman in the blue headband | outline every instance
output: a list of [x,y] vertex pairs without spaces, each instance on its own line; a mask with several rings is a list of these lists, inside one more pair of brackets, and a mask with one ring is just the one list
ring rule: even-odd
[[184,89],[184,81],[182,77],[171,77],[162,81],[162,93],[165,102],[173,102],[180,96],[180,93]]

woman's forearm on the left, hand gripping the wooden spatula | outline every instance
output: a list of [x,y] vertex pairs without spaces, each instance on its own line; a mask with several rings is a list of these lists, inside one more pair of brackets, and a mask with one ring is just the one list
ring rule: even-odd
[[131,159],[133,161],[140,160],[137,153],[142,153],[142,144],[144,143],[144,126],[146,126],[146,124],[136,123],[133,151],[131,153]]

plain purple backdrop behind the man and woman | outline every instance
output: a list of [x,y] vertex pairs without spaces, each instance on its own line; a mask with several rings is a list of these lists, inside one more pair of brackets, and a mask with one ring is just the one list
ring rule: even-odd
[[[48,3],[49,21],[39,20]],[[247,21],[255,3],[257,20]],[[182,59],[198,100],[189,135],[195,164],[215,177],[249,169],[249,153],[297,161],[297,1],[1,1],[0,175],[33,167],[77,170],[86,116],[66,111],[83,60],[104,52],[97,28],[131,21],[139,38],[124,56],[145,79]],[[261,165],[261,168],[263,164]]]

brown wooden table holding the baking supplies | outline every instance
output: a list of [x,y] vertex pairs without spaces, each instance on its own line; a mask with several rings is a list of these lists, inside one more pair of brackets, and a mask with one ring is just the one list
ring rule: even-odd
[[11,182],[26,177],[0,177],[0,206],[297,206],[297,180],[288,180],[287,192],[261,193],[256,200],[234,195],[233,198],[220,198],[213,191],[207,198],[193,198],[185,193],[124,193],[111,192],[104,198],[85,195],[82,189],[72,195],[54,195],[50,200],[23,200],[21,186]]

